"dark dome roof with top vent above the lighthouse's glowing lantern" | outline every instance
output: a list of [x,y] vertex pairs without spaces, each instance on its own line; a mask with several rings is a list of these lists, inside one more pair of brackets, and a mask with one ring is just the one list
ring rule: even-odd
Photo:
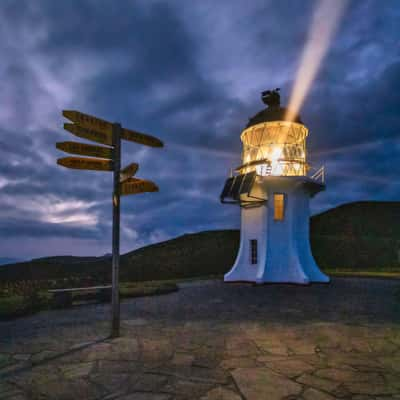
[[[268,107],[249,118],[246,128],[263,122],[285,121],[287,120],[287,111],[285,107],[281,107],[281,98],[279,88],[275,90],[265,90],[261,93],[261,99]],[[292,122],[302,124],[299,115],[291,116]]]

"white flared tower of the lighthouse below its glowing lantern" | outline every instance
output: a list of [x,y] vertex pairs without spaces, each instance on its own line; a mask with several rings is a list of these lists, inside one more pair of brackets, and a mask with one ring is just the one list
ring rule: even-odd
[[268,201],[242,208],[239,253],[224,281],[328,283],[309,242],[310,197],[324,186],[306,177],[271,176],[262,177],[258,185]]

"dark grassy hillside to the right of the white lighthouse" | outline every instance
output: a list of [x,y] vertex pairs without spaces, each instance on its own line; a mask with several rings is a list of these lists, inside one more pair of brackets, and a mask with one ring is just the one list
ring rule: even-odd
[[400,202],[348,203],[316,215],[311,246],[322,268],[398,268]]

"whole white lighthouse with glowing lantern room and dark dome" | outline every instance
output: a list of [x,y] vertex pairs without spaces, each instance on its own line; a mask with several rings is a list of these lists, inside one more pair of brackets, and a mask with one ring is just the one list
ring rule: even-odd
[[262,93],[266,108],[240,138],[242,164],[228,178],[221,202],[241,209],[240,247],[226,282],[329,282],[310,247],[310,200],[325,190],[324,168],[307,163],[308,129],[288,119],[279,89]]

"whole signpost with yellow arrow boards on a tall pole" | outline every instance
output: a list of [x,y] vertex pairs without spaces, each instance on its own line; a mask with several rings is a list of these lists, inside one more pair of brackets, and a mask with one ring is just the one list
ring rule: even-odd
[[56,143],[57,149],[65,151],[66,153],[96,157],[64,157],[59,158],[57,164],[72,169],[113,172],[111,337],[118,337],[120,331],[120,196],[158,191],[158,187],[154,182],[132,178],[139,169],[137,163],[129,164],[121,171],[121,139],[151,147],[163,147],[163,143],[154,136],[124,129],[118,123],[111,123],[91,115],[83,114],[79,111],[64,110],[62,114],[64,117],[74,122],[73,124],[64,124],[64,129],[83,139],[110,146],[94,146],[77,142]]

